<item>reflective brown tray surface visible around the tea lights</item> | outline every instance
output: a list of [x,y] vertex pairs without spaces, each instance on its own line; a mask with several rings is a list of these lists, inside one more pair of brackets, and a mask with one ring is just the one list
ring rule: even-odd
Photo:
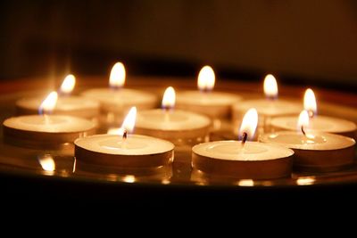
[[[105,78],[78,77],[78,88],[81,90],[106,86]],[[1,120],[15,114],[15,101],[24,96],[43,94],[55,88],[60,82],[47,82],[43,79],[29,78],[3,82],[0,96]],[[142,88],[161,95],[166,86],[175,86],[177,90],[195,88],[195,78],[129,78],[129,87]],[[237,81],[218,81],[216,90],[236,92],[245,98],[259,97],[262,90],[256,92],[262,86],[254,83]],[[38,90],[41,88],[41,90]],[[48,88],[48,90],[46,90]],[[303,87],[280,86],[281,97],[288,96],[293,100],[302,101]],[[319,102],[319,113],[334,115],[357,122],[355,106],[357,96],[336,91],[314,89]],[[228,121],[227,121],[228,123]],[[120,122],[119,124],[120,125]],[[239,192],[242,190],[286,189],[302,186],[339,186],[357,184],[357,164],[351,168],[333,173],[304,173],[294,171],[290,177],[274,180],[234,179],[230,177],[218,177],[205,175],[201,171],[192,170],[190,166],[191,146],[179,146],[175,150],[175,160],[168,168],[153,168],[142,170],[123,170],[117,168],[101,168],[93,165],[82,164],[73,156],[73,145],[69,144],[61,150],[30,149],[13,144],[7,144],[3,140],[0,143],[0,175],[5,181],[46,181],[46,183],[64,183],[76,185],[79,188],[87,185],[104,185],[109,190],[135,189],[141,191],[151,189],[160,191],[175,191],[179,189],[203,189],[229,190]],[[212,138],[235,139],[227,130],[222,130]],[[46,171],[46,160],[53,160],[54,171]],[[44,164],[45,163],[45,164]],[[47,169],[48,170],[48,169]],[[4,183],[4,181],[3,181]],[[2,184],[4,185],[4,184]],[[26,184],[25,184],[26,185]],[[100,195],[98,195],[100,196]]]

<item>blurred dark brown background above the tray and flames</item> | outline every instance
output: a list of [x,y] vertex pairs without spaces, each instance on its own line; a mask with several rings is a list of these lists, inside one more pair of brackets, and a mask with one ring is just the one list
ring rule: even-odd
[[4,0],[0,78],[73,72],[192,76],[357,88],[357,2]]

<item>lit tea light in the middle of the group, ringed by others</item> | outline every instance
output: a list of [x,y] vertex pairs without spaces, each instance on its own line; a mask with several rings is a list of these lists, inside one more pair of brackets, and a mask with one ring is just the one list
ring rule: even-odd
[[168,87],[162,98],[162,108],[139,111],[137,133],[167,139],[174,144],[197,144],[208,139],[211,119],[190,112],[173,110],[175,91]]

